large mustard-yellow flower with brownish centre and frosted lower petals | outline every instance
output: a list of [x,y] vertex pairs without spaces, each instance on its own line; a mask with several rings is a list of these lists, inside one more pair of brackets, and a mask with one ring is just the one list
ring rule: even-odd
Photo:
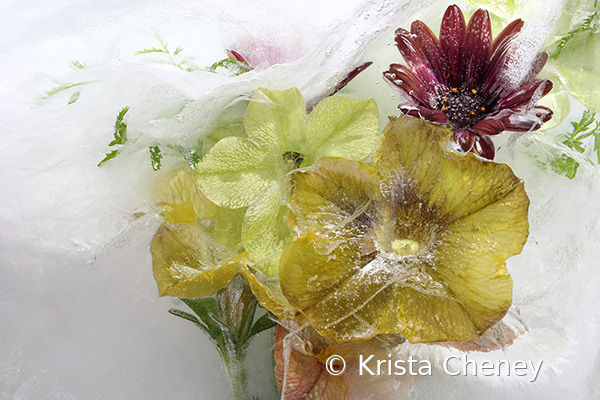
[[505,315],[505,260],[527,239],[529,200],[508,166],[446,151],[450,134],[398,117],[375,168],[327,157],[293,174],[299,237],[279,280],[319,334],[466,341]]

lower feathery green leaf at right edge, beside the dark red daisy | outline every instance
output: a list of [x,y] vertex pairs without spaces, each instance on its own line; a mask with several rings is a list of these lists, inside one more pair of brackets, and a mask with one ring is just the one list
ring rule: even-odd
[[[596,123],[596,126],[592,128],[592,125]],[[596,113],[586,110],[581,117],[579,122],[571,122],[573,125],[573,131],[563,136],[564,140],[562,144],[567,146],[569,149],[576,151],[584,155],[584,159],[591,165],[594,163],[585,155],[591,155],[596,153],[597,163],[600,164],[600,124],[596,121]],[[594,145],[589,149],[592,141],[588,138],[593,137]],[[588,140],[586,140],[588,139]],[[562,153],[559,156],[555,156],[550,161],[552,169],[559,173],[564,174],[569,179],[573,179],[577,174],[577,169],[580,163],[568,154]]]

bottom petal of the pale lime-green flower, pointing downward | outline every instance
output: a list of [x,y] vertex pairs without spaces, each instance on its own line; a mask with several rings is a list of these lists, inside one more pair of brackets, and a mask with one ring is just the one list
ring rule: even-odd
[[[281,202],[279,191],[279,185],[271,186],[248,207],[244,216],[242,243],[252,261],[283,250],[293,240],[292,230],[287,223],[289,210]],[[262,272],[274,274],[277,265]]]

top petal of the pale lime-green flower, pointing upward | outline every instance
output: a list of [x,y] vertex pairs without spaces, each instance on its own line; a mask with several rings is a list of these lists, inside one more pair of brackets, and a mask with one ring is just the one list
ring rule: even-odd
[[289,143],[302,139],[305,117],[306,104],[298,89],[258,89],[246,111],[244,126],[257,146],[289,149]]

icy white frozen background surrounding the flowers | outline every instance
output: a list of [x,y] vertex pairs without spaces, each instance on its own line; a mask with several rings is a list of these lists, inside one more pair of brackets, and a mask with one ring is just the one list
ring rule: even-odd
[[[380,72],[400,61],[396,27],[423,19],[437,32],[444,1],[9,1],[0,4],[0,399],[225,399],[216,351],[158,298],[149,241],[157,227],[148,145],[203,132],[241,94],[298,86],[317,98],[348,69],[375,65],[347,93],[394,112]],[[524,39],[535,52],[561,1],[539,5]],[[543,12],[542,12],[543,11]],[[159,47],[199,66],[224,50],[252,53],[257,71],[239,77],[184,72],[134,56]],[[193,60],[192,60],[193,58]],[[250,56],[249,56],[250,58]],[[73,70],[72,61],[89,68]],[[272,64],[279,64],[272,67]],[[518,71],[515,71],[518,73]],[[46,98],[59,85],[84,85]],[[81,90],[79,100],[67,105]],[[129,106],[127,151],[102,168],[114,119]],[[578,120],[575,104],[568,120]],[[568,122],[555,128],[568,130]],[[525,180],[531,235],[509,260],[514,304],[529,328],[484,359],[543,360],[535,383],[517,377],[352,379],[356,399],[600,398],[600,183],[594,170],[570,181],[539,169],[543,147],[498,161]],[[501,141],[502,142],[502,141]],[[158,174],[158,175],[157,175]],[[141,214],[140,214],[141,215]],[[268,335],[247,360],[255,395],[276,397]],[[434,366],[450,354],[404,346]]]

